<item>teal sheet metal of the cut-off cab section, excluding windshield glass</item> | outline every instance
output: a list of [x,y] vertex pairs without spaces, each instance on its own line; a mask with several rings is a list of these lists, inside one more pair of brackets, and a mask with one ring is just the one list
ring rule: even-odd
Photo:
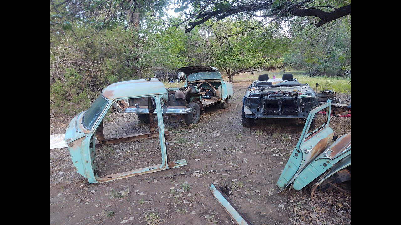
[[[106,175],[103,177],[98,176],[96,172],[95,136],[98,127],[101,125],[103,118],[107,113],[107,110],[109,110],[112,104],[117,100],[123,100],[126,98],[152,97],[157,103],[156,104],[157,111],[162,112],[160,98],[165,93],[166,93],[165,86],[162,84],[162,82],[160,82],[156,78],[152,78],[151,80],[144,80],[144,79],[128,80],[123,82],[117,82],[107,86],[101,92],[101,96],[99,96],[99,98],[103,98],[107,102],[107,104],[105,104],[103,108],[98,109],[99,116],[93,123],[93,126],[92,127],[85,126],[83,122],[84,121],[83,117],[85,116],[85,112],[87,112],[87,110],[85,110],[80,112],[77,116],[75,116],[67,127],[65,142],[67,143],[68,149],[71,154],[74,170],[77,171],[77,173],[79,173],[83,177],[86,177],[89,183],[99,183],[99,182],[113,181],[116,179],[122,179],[126,177],[132,177],[135,175],[152,173],[164,169],[170,169],[173,167],[186,165],[186,161],[184,159],[172,162],[169,162],[167,160],[164,124],[163,120],[158,120],[157,131],[149,133],[147,138],[159,137],[160,150],[162,153],[161,164],[153,165],[150,167],[144,167],[132,171],[127,171],[123,173]],[[91,107],[93,107],[93,104]]]

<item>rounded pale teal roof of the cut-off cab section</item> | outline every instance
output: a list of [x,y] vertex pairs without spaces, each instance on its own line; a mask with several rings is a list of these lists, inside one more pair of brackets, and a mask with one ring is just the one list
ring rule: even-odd
[[132,98],[153,94],[166,94],[166,87],[156,78],[117,82],[110,84],[102,91],[102,95],[108,99]]

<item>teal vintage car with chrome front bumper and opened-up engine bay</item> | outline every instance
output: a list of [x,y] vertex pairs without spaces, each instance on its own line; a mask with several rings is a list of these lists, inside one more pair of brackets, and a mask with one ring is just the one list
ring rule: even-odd
[[[228,99],[233,96],[233,84],[224,81],[217,68],[186,66],[179,68],[178,71],[185,75],[186,82],[181,88],[166,88],[166,94],[161,102],[165,105],[166,115],[181,115],[184,117],[184,123],[189,125],[199,121],[200,110],[204,110],[207,106],[217,105],[220,108],[227,108]],[[214,94],[207,95],[209,93]],[[125,112],[137,113],[141,122],[148,123],[148,120],[142,119],[146,116],[141,115],[149,113],[146,101],[130,101],[130,107]]]

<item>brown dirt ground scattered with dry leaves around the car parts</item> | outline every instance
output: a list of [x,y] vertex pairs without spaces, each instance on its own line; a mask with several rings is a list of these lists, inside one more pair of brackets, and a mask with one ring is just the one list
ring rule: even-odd
[[[254,225],[350,224],[350,183],[316,191],[314,199],[308,191],[287,188],[277,193],[275,183],[304,122],[269,119],[244,128],[241,106],[248,85],[234,82],[235,95],[229,106],[206,108],[192,127],[165,122],[170,131],[170,158],[186,159],[186,166],[88,184],[74,171],[67,148],[50,150],[50,224],[235,224],[210,193],[211,184],[228,185],[233,192],[231,201]],[[323,121],[324,116],[319,114],[316,127]],[[50,133],[65,133],[68,123],[67,119],[51,121]],[[135,114],[111,113],[103,123],[106,138],[149,129]],[[330,127],[336,136],[351,133],[351,118],[331,117]],[[158,138],[96,148],[99,175],[159,163]],[[177,175],[180,173],[189,174]],[[176,176],[166,177],[169,175]],[[127,189],[128,196],[119,194]]]

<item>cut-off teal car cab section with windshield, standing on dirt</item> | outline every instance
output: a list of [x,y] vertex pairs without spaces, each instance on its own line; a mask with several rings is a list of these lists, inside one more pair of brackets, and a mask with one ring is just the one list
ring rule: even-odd
[[[91,107],[75,116],[67,127],[64,140],[70,150],[75,171],[86,177],[89,183],[100,183],[186,165],[185,159],[169,161],[166,149],[168,131],[164,129],[163,120],[158,120],[157,127],[154,123],[150,123],[148,133],[114,139],[105,139],[103,135],[103,118],[113,103],[123,99],[146,98],[148,102],[156,102],[157,112],[162,112],[160,99],[165,90],[162,82],[155,78],[128,80],[107,86]],[[148,109],[153,112],[152,104],[148,105]],[[149,116],[153,117],[152,114]],[[95,137],[102,145],[159,137],[162,163],[123,173],[98,176],[95,163]]]

